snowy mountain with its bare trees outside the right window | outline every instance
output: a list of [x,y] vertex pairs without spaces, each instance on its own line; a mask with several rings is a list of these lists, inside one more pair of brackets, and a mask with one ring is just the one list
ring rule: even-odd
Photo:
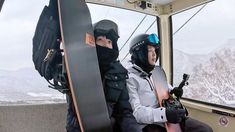
[[189,86],[184,96],[235,107],[235,39],[207,55],[174,54],[174,86],[189,73]]

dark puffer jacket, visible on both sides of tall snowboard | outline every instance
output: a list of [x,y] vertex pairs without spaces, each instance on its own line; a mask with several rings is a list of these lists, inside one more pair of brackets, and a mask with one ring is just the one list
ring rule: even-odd
[[[108,65],[108,70],[101,73],[105,99],[110,118],[122,120],[124,116],[132,115],[129,95],[126,87],[128,71],[119,61],[113,61]],[[134,117],[133,117],[134,118]],[[67,131],[80,129],[71,94],[67,94]]]

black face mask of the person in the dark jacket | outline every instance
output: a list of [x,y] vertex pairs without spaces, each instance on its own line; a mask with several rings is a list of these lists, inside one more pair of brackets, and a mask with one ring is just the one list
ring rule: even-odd
[[96,45],[97,56],[100,66],[100,72],[103,74],[108,70],[108,65],[118,58],[119,52],[115,49],[110,49]]

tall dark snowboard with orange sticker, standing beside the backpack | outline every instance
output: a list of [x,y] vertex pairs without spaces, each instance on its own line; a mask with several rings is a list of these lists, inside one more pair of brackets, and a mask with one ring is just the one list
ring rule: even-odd
[[89,9],[84,0],[58,0],[69,87],[82,132],[111,132]]

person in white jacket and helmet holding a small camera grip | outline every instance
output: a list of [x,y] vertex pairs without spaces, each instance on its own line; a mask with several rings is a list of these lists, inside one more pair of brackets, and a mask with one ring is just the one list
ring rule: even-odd
[[[151,71],[155,67],[160,53],[160,44],[155,34],[141,34],[136,36],[130,44],[131,62],[128,68],[129,78],[127,88],[133,115],[138,123],[142,124],[143,131],[164,132],[165,122],[181,123],[186,119],[184,108],[160,107],[156,92],[151,81]],[[178,98],[183,95],[183,90],[169,86],[169,92]],[[183,130],[187,132],[212,132],[212,129],[197,120],[187,118]]]

